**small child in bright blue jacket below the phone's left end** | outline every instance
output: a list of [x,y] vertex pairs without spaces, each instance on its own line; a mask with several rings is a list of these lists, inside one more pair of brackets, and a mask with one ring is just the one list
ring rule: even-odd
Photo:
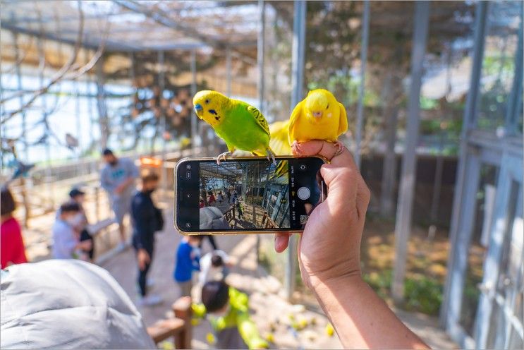
[[200,271],[200,248],[203,236],[185,236],[176,250],[173,278],[181,290],[181,296],[191,296],[193,271]]

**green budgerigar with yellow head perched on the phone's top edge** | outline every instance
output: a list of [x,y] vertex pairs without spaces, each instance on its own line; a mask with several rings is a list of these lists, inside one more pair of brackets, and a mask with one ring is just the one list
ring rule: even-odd
[[197,116],[226,141],[228,152],[219,155],[217,163],[235,150],[267,155],[274,162],[274,152],[269,147],[269,126],[258,109],[212,90],[197,92],[193,97],[193,105]]

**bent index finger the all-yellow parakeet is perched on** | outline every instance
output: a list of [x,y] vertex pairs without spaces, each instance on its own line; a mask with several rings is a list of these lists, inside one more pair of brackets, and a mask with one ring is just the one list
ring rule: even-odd
[[311,140],[305,143],[297,143],[293,148],[295,155],[301,157],[319,155],[328,159],[331,164],[336,165],[337,167],[350,167],[352,170],[358,171],[357,165],[353,160],[351,152],[346,147],[343,147],[342,152],[339,155],[336,155],[336,144],[329,143],[323,140]]

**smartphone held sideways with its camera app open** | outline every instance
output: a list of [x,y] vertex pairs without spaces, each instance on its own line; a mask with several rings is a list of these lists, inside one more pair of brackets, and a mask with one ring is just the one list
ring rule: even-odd
[[175,168],[175,227],[181,234],[302,231],[327,188],[320,157],[181,159]]

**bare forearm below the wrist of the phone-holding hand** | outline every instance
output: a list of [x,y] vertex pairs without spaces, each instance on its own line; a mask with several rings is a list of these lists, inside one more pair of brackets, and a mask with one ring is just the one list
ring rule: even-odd
[[344,347],[427,349],[360,276],[317,282],[313,286]]

